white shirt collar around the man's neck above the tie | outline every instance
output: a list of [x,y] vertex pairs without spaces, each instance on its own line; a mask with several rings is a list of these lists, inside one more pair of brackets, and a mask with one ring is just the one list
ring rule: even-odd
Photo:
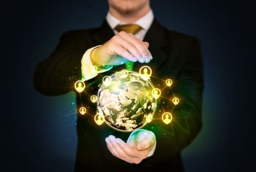
[[[138,24],[141,26],[144,30],[148,30],[154,20],[154,14],[152,10],[147,12],[146,15],[144,15],[142,18],[138,19],[134,24]],[[117,18],[115,18],[113,15],[111,15],[109,12],[106,15],[106,21],[108,22],[109,26],[112,28],[112,30],[117,26],[118,24],[127,24],[125,22],[121,22]]]

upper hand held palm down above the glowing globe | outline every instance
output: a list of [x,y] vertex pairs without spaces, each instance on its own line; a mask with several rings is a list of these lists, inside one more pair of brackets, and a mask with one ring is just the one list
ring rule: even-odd
[[108,42],[93,49],[90,60],[93,65],[122,65],[127,61],[150,62],[152,55],[149,44],[124,31],[113,36]]

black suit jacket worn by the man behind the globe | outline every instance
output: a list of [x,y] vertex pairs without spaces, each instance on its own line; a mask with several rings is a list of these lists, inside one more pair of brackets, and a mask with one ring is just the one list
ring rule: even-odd
[[[99,28],[69,31],[61,36],[59,44],[49,58],[40,62],[34,74],[36,90],[45,95],[61,95],[74,90],[74,83],[81,79],[81,58],[85,51],[108,41],[114,33],[106,20]],[[93,171],[113,169],[121,171],[155,171],[170,169],[183,171],[180,158],[181,150],[195,138],[201,128],[201,104],[203,94],[203,62],[199,41],[192,36],[170,31],[154,19],[144,37],[150,43],[149,50],[153,60],[148,64],[152,75],[158,78],[173,79],[172,90],[180,103],[172,111],[172,123],[164,124],[161,120],[153,120],[147,124],[148,129],[156,135],[156,149],[152,157],[138,165],[130,164],[112,156],[105,144],[105,137],[110,134],[127,140],[130,133],[121,133],[103,126],[96,126],[90,115],[77,118],[77,156],[76,171]],[[134,70],[138,71],[138,62]],[[113,70],[121,70],[125,65]],[[101,75],[110,75],[112,71]],[[164,81],[151,78],[155,86],[164,87]],[[101,77],[86,81],[86,92],[97,94],[97,86]],[[166,90],[165,97],[172,97],[171,90]],[[91,103],[86,94],[77,96],[77,108],[86,107],[89,114],[95,114],[96,105]],[[164,111],[171,111],[170,100],[160,100]],[[154,118],[161,118],[163,109],[158,106]],[[160,110],[162,110],[160,112]],[[166,171],[166,170],[165,170]]]

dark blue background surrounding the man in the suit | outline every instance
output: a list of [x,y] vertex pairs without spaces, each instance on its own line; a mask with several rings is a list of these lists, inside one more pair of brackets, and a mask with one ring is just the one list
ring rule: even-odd
[[[249,1],[151,1],[164,26],[196,36],[205,64],[204,126],[183,152],[186,171],[255,169],[255,12]],[[74,95],[32,86],[61,33],[100,26],[104,0],[1,2],[1,153],[5,171],[72,171]],[[70,114],[70,115],[67,115]],[[89,155],[88,155],[89,156]],[[1,170],[2,171],[2,170]]]

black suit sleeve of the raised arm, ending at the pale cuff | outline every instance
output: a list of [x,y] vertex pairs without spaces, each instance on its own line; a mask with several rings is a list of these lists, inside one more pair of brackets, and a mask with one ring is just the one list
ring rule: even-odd
[[[34,73],[34,87],[45,95],[61,95],[73,90],[81,79],[81,59],[88,45],[79,45],[81,38],[64,33],[52,54],[40,62]],[[80,48],[82,47],[82,48]]]

